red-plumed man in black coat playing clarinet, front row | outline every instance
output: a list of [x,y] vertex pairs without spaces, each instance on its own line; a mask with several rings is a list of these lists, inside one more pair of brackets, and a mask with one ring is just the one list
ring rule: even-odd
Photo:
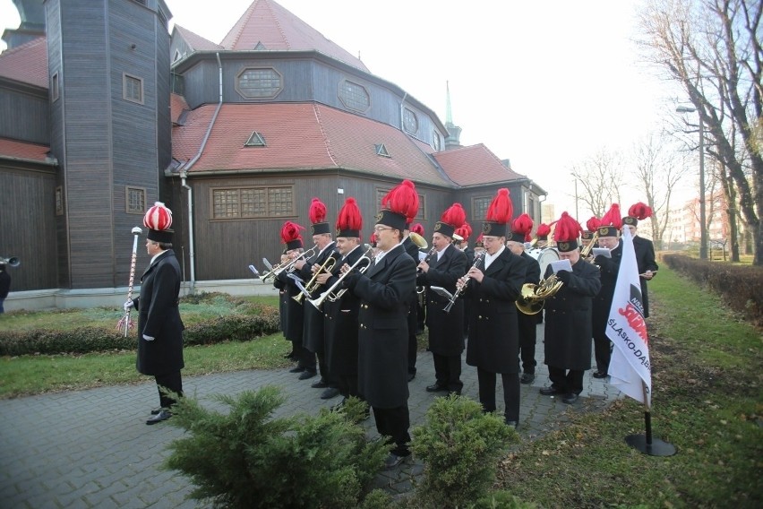
[[506,223],[513,214],[509,190],[498,190],[483,223],[484,260],[472,265],[459,287],[469,284],[469,341],[467,364],[477,368],[479,401],[485,412],[495,411],[496,375],[503,382],[504,419],[519,424],[519,325],[517,306],[525,262],[506,249]]

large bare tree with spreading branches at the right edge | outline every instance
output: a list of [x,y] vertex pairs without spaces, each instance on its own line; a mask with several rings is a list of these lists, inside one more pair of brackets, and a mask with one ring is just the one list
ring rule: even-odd
[[763,265],[761,13],[759,0],[651,0],[641,12],[648,55],[686,91],[736,190],[756,265]]

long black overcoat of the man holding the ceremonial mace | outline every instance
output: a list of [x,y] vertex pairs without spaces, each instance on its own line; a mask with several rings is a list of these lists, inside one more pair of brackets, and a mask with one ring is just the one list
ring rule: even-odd
[[[167,375],[183,369],[183,321],[177,308],[180,264],[167,249],[141,276],[141,296],[133,300],[138,310],[138,358],[143,375]],[[145,341],[143,334],[154,338]]]

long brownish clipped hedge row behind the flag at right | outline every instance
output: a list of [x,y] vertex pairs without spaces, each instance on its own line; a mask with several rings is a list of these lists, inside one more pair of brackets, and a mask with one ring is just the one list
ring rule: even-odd
[[763,326],[763,269],[752,265],[709,262],[685,255],[663,255],[664,263],[716,291],[750,323]]

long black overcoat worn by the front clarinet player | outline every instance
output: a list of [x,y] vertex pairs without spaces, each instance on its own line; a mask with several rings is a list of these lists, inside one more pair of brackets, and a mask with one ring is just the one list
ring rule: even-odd
[[[480,262],[484,267],[484,258]],[[467,364],[492,373],[519,373],[517,305],[525,262],[504,248],[484,272],[482,283],[469,281]]]

